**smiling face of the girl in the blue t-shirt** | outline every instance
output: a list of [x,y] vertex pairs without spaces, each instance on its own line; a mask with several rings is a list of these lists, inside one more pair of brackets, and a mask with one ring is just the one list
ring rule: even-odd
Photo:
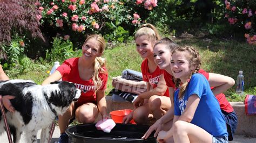
[[175,78],[180,78],[185,83],[191,74],[191,63],[187,58],[188,52],[174,52],[171,57],[171,70]]

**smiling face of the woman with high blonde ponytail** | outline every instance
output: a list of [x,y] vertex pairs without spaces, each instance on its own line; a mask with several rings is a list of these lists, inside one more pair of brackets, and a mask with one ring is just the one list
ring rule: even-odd
[[142,58],[147,58],[153,54],[153,42],[147,35],[142,35],[135,40],[137,52]]

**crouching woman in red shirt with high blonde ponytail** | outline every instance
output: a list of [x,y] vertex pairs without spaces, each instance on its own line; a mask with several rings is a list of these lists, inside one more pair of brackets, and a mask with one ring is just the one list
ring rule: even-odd
[[134,101],[134,110],[123,119],[129,123],[133,118],[137,124],[146,124],[149,116],[159,119],[171,107],[169,91],[164,81],[163,70],[154,62],[154,42],[160,39],[158,31],[151,24],[144,24],[134,36],[137,52],[144,59],[142,62],[143,81],[147,82],[147,91],[139,94]]

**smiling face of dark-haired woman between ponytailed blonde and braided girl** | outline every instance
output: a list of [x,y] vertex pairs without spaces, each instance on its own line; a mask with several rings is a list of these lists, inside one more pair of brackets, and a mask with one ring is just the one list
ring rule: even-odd
[[171,52],[165,44],[157,44],[153,49],[154,62],[160,69],[170,69]]

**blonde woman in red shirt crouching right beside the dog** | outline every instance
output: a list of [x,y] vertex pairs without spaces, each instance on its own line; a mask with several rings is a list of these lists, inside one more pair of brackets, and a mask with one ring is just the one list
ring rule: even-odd
[[98,114],[102,119],[110,119],[106,112],[106,99],[104,91],[107,83],[107,71],[105,59],[100,56],[105,49],[105,40],[100,35],[90,35],[82,46],[82,56],[65,60],[55,73],[50,75],[42,83],[49,84],[62,78],[63,81],[75,83],[76,87],[82,90],[78,102],[72,103],[70,108],[59,116],[58,124],[60,129],[59,142],[68,142],[68,135],[65,130],[72,118],[79,123],[93,123]]

